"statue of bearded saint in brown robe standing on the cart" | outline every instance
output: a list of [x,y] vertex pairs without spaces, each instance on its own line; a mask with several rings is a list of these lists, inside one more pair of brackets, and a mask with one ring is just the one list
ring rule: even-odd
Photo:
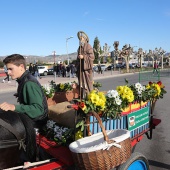
[[77,77],[78,83],[83,89],[81,94],[84,97],[91,90],[93,90],[93,61],[94,61],[94,52],[93,48],[89,44],[89,38],[86,33],[79,31],[77,33],[79,39],[79,48],[77,56]]

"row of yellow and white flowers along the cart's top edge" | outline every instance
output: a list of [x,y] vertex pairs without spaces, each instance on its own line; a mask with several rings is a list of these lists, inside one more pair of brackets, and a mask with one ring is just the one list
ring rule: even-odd
[[146,102],[163,98],[166,93],[161,81],[149,82],[147,85],[135,83],[133,85],[117,86],[116,90],[107,91],[106,95],[98,90],[91,91],[82,101],[78,101],[78,107],[85,113],[95,111],[103,118],[117,119],[122,111],[129,107],[130,103]]

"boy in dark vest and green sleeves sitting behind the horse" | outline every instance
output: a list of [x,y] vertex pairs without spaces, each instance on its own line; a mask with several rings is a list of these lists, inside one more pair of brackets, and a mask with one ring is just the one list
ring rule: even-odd
[[0,109],[26,114],[34,127],[41,127],[47,121],[48,106],[41,84],[26,70],[25,58],[20,54],[12,54],[3,60],[8,74],[18,82],[16,97],[18,104],[4,102]]

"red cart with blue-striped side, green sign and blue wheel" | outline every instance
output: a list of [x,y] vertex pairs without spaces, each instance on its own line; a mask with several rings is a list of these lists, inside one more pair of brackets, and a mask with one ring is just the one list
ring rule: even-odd
[[[73,105],[72,105],[73,106]],[[129,111],[123,112],[121,119],[103,121],[106,130],[128,129],[130,131],[132,154],[127,161],[113,169],[115,170],[149,170],[147,158],[137,152],[133,152],[135,146],[144,135],[152,139],[153,129],[161,122],[160,119],[153,118],[154,103],[146,102],[140,107],[130,106]],[[74,106],[73,106],[74,107]],[[76,111],[77,114],[77,111]],[[131,121],[135,117],[135,122]],[[89,116],[90,131],[92,134],[101,132],[101,128],[94,116]],[[141,120],[141,121],[139,121]],[[139,124],[139,125],[138,125]],[[87,129],[86,129],[87,130]],[[74,170],[76,169],[71,151],[66,146],[59,146],[54,141],[50,141],[45,136],[37,134],[37,144],[39,151],[46,161],[31,164],[30,170]],[[12,168],[11,168],[12,170]]]

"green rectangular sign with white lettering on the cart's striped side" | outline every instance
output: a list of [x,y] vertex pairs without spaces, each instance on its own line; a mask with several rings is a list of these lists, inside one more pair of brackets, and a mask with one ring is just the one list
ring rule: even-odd
[[132,131],[149,122],[149,106],[127,115],[128,130]]

